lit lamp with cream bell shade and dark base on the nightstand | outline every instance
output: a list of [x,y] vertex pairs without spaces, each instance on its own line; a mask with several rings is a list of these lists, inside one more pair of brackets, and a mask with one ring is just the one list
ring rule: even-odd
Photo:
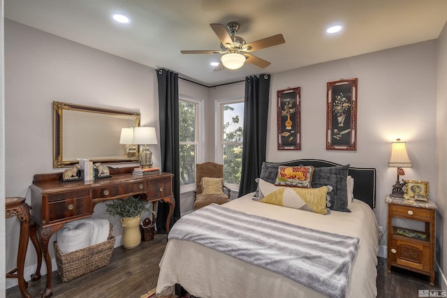
[[397,167],[397,180],[393,185],[393,192],[390,194],[391,197],[404,198],[404,183],[400,183],[400,176],[405,174],[402,167],[411,167],[411,160],[406,153],[406,142],[401,142],[397,139],[396,142],[391,143],[391,156],[390,161],[388,161],[388,167]]

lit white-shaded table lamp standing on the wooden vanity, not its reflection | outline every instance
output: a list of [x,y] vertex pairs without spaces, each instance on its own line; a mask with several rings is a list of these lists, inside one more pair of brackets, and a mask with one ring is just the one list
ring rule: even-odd
[[152,167],[152,151],[147,145],[158,144],[155,128],[145,126],[133,128],[132,144],[144,145],[140,150],[140,167],[143,169]]

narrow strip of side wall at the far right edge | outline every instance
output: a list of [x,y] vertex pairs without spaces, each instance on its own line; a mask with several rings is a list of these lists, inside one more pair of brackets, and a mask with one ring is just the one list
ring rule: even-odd
[[[444,186],[447,185],[447,23],[437,40],[437,179],[440,194],[437,198],[436,255],[441,271],[447,272],[447,198]],[[444,248],[444,251],[443,249]],[[439,278],[442,288],[447,290],[446,276]]]

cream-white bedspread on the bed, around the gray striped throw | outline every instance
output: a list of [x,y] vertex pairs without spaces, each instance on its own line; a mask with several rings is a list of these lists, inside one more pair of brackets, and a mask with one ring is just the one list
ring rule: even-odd
[[[347,297],[376,297],[376,254],[379,229],[372,209],[359,200],[351,213],[331,211],[321,215],[251,200],[253,193],[225,207],[360,239],[354,258]],[[174,292],[175,283],[201,298],[323,297],[320,293],[261,267],[205,248],[191,241],[170,239],[160,262],[157,295]]]

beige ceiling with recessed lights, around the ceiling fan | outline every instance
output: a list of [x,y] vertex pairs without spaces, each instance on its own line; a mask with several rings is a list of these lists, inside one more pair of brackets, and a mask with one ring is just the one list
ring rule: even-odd
[[[112,13],[130,24],[111,20]],[[447,21],[446,0],[4,0],[4,16],[153,68],[168,68],[206,86],[279,73],[325,61],[435,39]],[[286,43],[251,54],[271,64],[246,63],[214,71],[221,54],[210,23],[239,22],[247,43],[282,33]],[[330,24],[344,29],[332,36]]]

